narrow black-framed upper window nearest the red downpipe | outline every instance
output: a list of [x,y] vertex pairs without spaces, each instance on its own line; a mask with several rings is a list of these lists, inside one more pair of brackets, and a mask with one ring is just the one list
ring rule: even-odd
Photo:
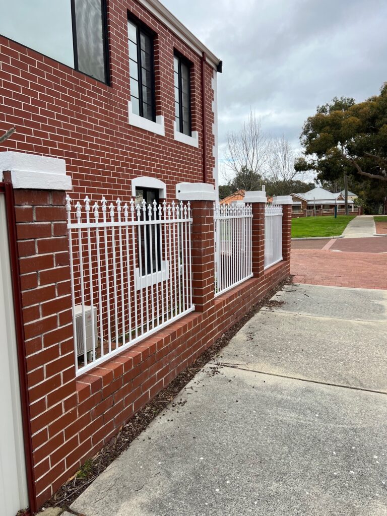
[[187,59],[174,55],[175,121],[176,131],[191,136],[190,68]]

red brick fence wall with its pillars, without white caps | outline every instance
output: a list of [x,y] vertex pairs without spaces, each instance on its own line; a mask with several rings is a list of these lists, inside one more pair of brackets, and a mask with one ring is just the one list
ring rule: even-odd
[[[290,263],[280,262],[214,299],[212,203],[192,202],[193,225],[200,228],[192,231],[192,266],[202,283],[196,285],[199,310],[75,378],[64,193],[15,190],[14,196],[41,506],[123,423],[288,275]],[[290,211],[284,208],[284,237],[289,239]]]

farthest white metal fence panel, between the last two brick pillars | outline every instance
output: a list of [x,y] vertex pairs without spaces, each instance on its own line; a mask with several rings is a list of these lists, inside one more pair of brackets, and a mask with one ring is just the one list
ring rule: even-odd
[[282,206],[265,206],[265,269],[282,260]]

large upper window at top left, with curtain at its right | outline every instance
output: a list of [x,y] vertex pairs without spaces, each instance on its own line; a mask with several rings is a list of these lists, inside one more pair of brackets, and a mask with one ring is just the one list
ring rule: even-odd
[[7,2],[0,34],[108,82],[105,0]]

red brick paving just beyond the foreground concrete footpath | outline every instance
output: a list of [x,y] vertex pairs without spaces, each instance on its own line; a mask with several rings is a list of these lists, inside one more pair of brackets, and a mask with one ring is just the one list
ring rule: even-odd
[[387,254],[293,249],[291,273],[295,283],[387,289]]

